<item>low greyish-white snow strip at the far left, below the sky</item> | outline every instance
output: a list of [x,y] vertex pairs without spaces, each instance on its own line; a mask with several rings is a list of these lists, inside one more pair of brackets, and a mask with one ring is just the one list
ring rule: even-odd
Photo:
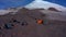
[[0,15],[4,15],[8,13],[12,13],[15,14],[15,12],[18,12],[20,9],[22,9],[23,7],[18,7],[18,8],[8,8],[7,10],[0,10]]

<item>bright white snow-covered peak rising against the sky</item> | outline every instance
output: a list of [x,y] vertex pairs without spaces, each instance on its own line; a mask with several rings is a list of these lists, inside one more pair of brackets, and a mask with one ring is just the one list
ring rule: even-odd
[[56,4],[56,3],[52,3],[52,2],[47,2],[47,1],[43,1],[43,0],[35,0],[33,2],[31,2],[30,4],[25,5],[26,9],[45,9],[47,10],[48,8],[55,8],[58,11],[65,11],[66,7]]

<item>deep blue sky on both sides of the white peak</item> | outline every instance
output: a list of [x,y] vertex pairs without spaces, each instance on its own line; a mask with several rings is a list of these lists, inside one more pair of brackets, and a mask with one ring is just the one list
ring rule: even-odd
[[[10,8],[10,7],[23,7],[31,3],[34,0],[0,0],[0,9]],[[57,3],[66,7],[66,0],[44,0],[53,3]]]

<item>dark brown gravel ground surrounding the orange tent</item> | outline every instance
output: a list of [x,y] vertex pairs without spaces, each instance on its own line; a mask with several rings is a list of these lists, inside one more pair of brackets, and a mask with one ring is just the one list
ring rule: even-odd
[[[45,17],[42,12],[28,9],[21,9],[15,14],[0,15],[0,37],[66,37],[66,21]],[[44,22],[37,24],[36,20]],[[22,22],[26,25],[22,25]],[[12,23],[12,29],[6,29],[6,23]]]

